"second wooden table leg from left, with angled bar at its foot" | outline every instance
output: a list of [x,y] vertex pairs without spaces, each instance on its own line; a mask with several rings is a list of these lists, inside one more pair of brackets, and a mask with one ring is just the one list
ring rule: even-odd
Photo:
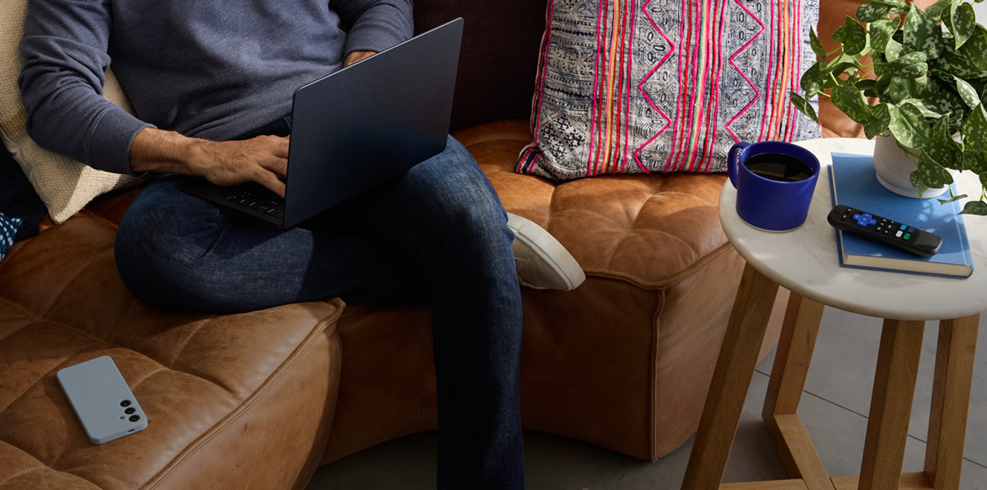
[[789,477],[803,480],[808,490],[833,490],[833,482],[796,415],[824,309],[825,305],[792,293],[762,412]]

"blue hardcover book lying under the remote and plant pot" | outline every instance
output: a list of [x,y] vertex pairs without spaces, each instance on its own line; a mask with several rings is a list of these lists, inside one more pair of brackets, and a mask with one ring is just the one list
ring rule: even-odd
[[973,274],[973,256],[959,202],[912,199],[885,189],[873,172],[873,157],[834,153],[829,170],[833,206],[843,204],[912,225],[943,238],[939,253],[919,257],[836,231],[840,265],[966,278]]

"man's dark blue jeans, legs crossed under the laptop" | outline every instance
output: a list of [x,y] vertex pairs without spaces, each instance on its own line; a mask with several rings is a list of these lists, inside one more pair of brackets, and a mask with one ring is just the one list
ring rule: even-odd
[[281,230],[153,180],[116,236],[120,277],[159,307],[232,314],[340,297],[432,309],[438,488],[524,488],[521,297],[506,214],[470,153],[444,152]]

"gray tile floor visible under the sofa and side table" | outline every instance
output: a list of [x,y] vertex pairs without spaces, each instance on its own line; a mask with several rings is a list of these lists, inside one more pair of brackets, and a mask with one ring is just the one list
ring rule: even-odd
[[[858,474],[870,411],[881,320],[827,309],[799,416],[832,475]],[[964,490],[987,490],[987,315],[981,320],[973,379]],[[925,455],[938,323],[926,324],[915,388],[905,471],[919,471]],[[786,478],[760,419],[774,356],[757,368],[724,481]],[[307,490],[427,490],[435,488],[434,432],[390,441],[319,468]],[[533,490],[678,489],[692,441],[657,462],[645,462],[551,434],[525,434],[528,488]]]

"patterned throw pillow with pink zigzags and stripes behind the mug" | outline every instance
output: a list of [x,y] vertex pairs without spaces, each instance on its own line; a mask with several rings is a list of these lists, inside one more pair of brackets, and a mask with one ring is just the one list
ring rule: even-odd
[[722,172],[735,142],[819,137],[789,99],[817,18],[818,0],[549,0],[515,171]]

